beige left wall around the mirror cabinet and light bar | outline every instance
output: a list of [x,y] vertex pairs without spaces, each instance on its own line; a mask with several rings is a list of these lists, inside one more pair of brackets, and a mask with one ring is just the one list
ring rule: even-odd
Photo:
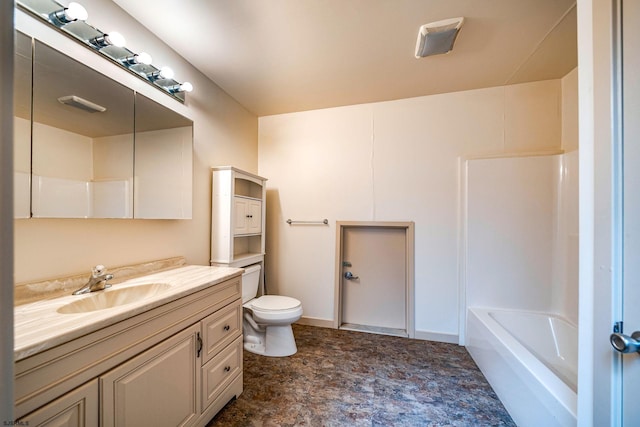
[[145,96],[194,121],[193,219],[16,220],[15,282],[88,274],[95,264],[119,266],[176,255],[186,256],[189,263],[207,265],[211,204],[209,168],[231,164],[257,172],[257,118],[112,2],[87,0],[83,5],[89,11],[92,25],[98,28],[117,26],[132,50],[149,52],[154,63],[171,65],[178,80],[192,82],[195,89],[188,95],[185,105],[56,31],[47,31],[44,25],[29,16],[18,13],[16,26],[45,34],[45,40],[54,47],[116,76]]

